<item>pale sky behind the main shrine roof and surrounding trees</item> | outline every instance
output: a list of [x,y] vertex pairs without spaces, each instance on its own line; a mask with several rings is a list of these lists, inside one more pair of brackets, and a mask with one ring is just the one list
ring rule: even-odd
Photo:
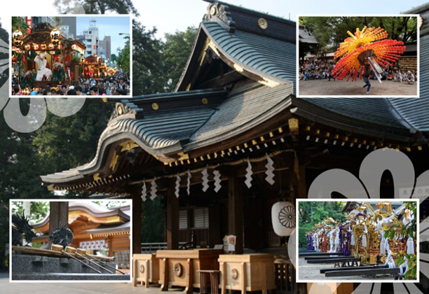
[[[71,0],[75,1],[75,0]],[[20,0],[20,9],[12,1],[2,3],[0,21],[2,27],[10,30],[11,11],[20,15],[57,15],[53,0],[43,0],[43,5],[34,5],[32,0]],[[136,18],[142,25],[158,29],[157,38],[165,33],[174,34],[186,27],[198,27],[209,3],[202,0],[132,0],[140,13]],[[397,14],[428,3],[429,0],[226,0],[236,6],[243,6],[271,15],[296,20],[297,14],[346,15],[346,14]],[[8,7],[5,6],[10,6]]]

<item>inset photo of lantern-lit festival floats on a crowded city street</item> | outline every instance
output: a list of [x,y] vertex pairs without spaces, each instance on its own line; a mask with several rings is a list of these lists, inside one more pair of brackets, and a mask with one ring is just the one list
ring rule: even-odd
[[11,18],[10,97],[132,95],[131,15]]

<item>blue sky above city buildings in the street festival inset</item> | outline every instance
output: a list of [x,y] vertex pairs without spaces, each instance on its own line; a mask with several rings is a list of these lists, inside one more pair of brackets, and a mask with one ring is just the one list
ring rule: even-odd
[[119,33],[130,34],[130,18],[122,16],[76,18],[76,34],[80,35],[88,29],[90,20],[95,19],[98,27],[98,39],[103,40],[104,36],[111,37],[111,54],[116,54],[116,48],[121,49],[125,45],[126,35],[119,36]]

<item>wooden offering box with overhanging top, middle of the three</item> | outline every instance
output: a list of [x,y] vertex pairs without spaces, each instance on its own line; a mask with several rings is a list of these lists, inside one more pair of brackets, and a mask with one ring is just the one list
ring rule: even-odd
[[192,293],[193,288],[200,288],[200,269],[219,269],[217,259],[222,249],[193,250],[158,250],[160,259],[161,290],[168,290],[168,285],[184,286],[185,293]]

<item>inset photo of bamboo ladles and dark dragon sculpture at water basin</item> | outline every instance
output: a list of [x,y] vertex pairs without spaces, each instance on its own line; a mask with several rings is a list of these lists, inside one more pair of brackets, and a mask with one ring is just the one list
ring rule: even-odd
[[11,282],[131,282],[132,200],[10,200]]

